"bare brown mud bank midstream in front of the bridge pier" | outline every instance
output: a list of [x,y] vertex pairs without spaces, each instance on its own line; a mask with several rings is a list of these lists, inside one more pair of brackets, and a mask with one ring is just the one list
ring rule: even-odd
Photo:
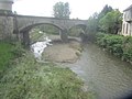
[[44,50],[43,59],[57,63],[75,63],[81,55],[81,44],[76,40],[63,43],[55,40],[52,46]]

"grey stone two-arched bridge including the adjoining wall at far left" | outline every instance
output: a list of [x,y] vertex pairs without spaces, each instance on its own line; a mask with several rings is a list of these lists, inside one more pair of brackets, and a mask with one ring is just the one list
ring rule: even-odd
[[[31,16],[31,15],[15,15],[15,14],[0,14],[0,31],[2,34],[16,35],[18,38],[25,44],[30,44],[30,30],[36,25],[52,24],[59,29],[61,38],[64,42],[68,41],[68,31],[73,26],[80,26],[85,31],[87,26],[87,20],[75,19],[57,19],[47,16]],[[0,33],[1,37],[1,33]]]

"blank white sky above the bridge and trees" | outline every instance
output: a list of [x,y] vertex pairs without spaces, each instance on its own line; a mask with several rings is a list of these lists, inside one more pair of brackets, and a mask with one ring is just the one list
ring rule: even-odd
[[23,15],[53,16],[53,6],[58,2],[69,2],[70,18],[87,20],[95,12],[100,12],[106,4],[121,12],[132,4],[132,0],[16,0],[13,11]]

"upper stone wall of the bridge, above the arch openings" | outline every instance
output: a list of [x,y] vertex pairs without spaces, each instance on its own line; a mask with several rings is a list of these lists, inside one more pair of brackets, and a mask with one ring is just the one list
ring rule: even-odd
[[45,16],[29,16],[29,15],[16,15],[18,28],[20,31],[24,29],[30,29],[38,24],[52,24],[61,30],[69,30],[75,25],[87,25],[86,20],[72,20],[72,19],[56,19],[56,18],[45,18]]

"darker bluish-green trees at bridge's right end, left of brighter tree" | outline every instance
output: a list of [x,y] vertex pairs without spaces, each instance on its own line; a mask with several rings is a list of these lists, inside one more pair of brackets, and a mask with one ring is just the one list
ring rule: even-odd
[[[87,41],[91,41],[91,42],[95,41],[96,40],[95,36],[97,32],[107,30],[108,25],[106,24],[110,20],[106,19],[103,21],[102,19],[105,19],[105,16],[111,11],[113,11],[113,9],[108,4],[106,4],[100,13],[94,13],[94,15],[88,19],[88,24],[86,29]],[[103,25],[103,23],[106,24]]]

